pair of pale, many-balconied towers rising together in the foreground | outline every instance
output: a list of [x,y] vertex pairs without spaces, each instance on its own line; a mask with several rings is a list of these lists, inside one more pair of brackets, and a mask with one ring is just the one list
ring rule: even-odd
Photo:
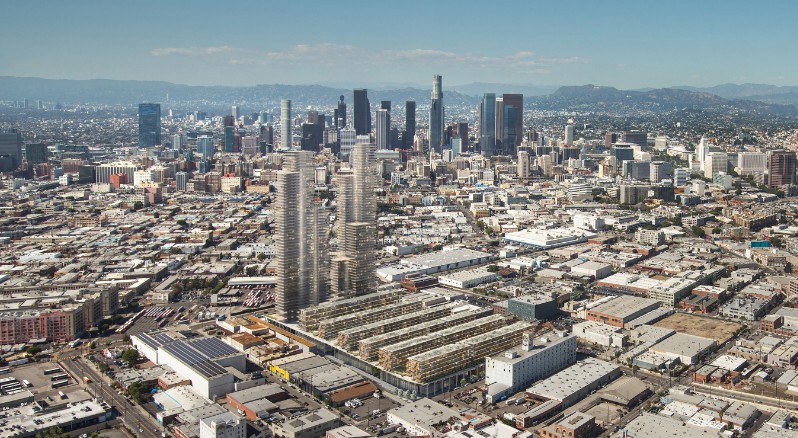
[[335,297],[369,293],[374,286],[377,198],[373,147],[355,144],[351,167],[336,175],[334,239],[330,212],[314,192],[310,151],[282,154],[275,201],[276,318],[294,322],[300,310]]

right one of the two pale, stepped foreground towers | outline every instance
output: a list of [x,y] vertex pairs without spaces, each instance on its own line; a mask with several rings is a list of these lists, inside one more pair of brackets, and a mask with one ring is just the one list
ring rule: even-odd
[[338,254],[330,283],[331,293],[339,297],[367,294],[374,285],[377,198],[371,148],[368,143],[356,144],[352,171],[337,177]]

